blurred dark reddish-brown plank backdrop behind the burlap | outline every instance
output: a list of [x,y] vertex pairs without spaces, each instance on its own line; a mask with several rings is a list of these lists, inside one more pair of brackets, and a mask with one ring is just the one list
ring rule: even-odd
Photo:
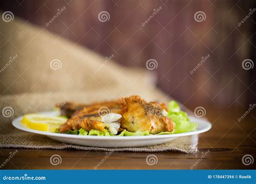
[[[12,0],[1,2],[0,9],[104,56],[114,54],[114,60],[125,67],[146,69],[146,61],[154,59],[158,67],[149,72],[156,73],[156,85],[166,94],[185,105],[229,108],[255,102],[255,67],[245,70],[242,61],[251,59],[255,63],[256,12],[238,26],[255,4],[210,0]],[[46,26],[64,6],[65,10]],[[102,11],[109,13],[109,21],[99,21]],[[202,22],[194,19],[198,11],[205,13]],[[191,74],[208,54],[210,57]]]

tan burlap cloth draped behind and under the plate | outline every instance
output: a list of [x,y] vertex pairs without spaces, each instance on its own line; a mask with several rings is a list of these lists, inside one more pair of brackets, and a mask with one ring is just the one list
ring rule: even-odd
[[[18,54],[11,65],[0,73],[0,110],[3,111],[5,107],[14,109],[10,117],[4,117],[3,113],[0,115],[0,147],[184,153],[197,151],[197,136],[180,137],[170,143],[150,147],[112,149],[66,145],[41,135],[16,130],[11,125],[15,117],[53,110],[56,103],[63,101],[90,103],[140,95],[147,101],[168,102],[170,97],[153,85],[154,75],[151,71],[119,66],[114,58],[106,63],[105,56],[17,17],[8,23],[1,20],[0,32],[1,67],[6,65],[10,56]],[[52,69],[50,61],[53,59],[60,60],[62,67]]]

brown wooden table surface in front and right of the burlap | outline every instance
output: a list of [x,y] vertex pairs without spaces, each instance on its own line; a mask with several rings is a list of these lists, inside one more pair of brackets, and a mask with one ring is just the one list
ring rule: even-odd
[[[191,108],[193,109],[193,108]],[[245,113],[244,109],[206,108],[206,117],[212,122],[212,129],[199,136],[198,150],[195,154],[158,152],[114,152],[105,161],[105,152],[78,150],[30,150],[18,149],[18,153],[1,169],[255,169],[253,164],[244,165],[242,157],[246,154],[256,158],[255,115]],[[1,148],[1,163],[16,149]],[[206,153],[207,151],[207,153]],[[59,154],[62,162],[53,166],[50,157]],[[155,165],[147,165],[149,154],[157,156]]]

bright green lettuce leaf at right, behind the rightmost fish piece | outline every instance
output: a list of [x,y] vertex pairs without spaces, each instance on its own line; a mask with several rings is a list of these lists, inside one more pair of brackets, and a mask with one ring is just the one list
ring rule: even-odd
[[175,128],[173,133],[184,133],[197,130],[197,123],[190,122],[186,112],[180,110],[177,102],[169,102],[168,117],[172,118]]

